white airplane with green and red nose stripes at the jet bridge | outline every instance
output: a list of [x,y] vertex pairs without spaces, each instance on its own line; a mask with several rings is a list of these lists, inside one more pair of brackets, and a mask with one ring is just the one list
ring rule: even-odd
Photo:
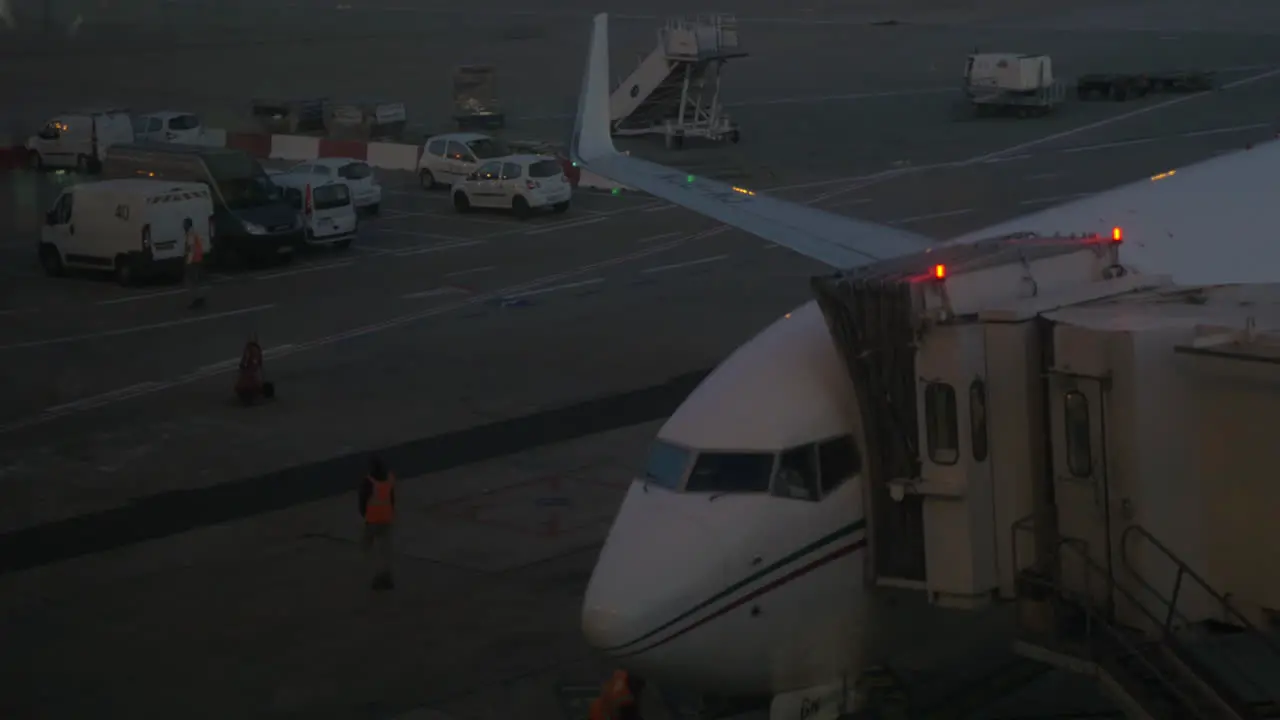
[[[836,269],[937,245],[617,152],[608,77],[600,14],[571,150],[580,167]],[[1280,142],[950,242],[1116,227],[1133,272],[1185,284],[1280,279]],[[860,424],[817,302],[739,347],[662,427],[632,482],[586,591],[589,643],[658,684],[773,696],[773,717],[812,716],[806,697],[851,687],[883,647],[864,580]]]

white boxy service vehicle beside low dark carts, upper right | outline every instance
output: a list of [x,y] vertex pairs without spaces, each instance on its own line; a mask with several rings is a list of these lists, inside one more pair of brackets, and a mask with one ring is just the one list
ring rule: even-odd
[[1044,115],[1062,104],[1066,91],[1053,79],[1048,55],[977,53],[964,70],[964,95],[979,115]]

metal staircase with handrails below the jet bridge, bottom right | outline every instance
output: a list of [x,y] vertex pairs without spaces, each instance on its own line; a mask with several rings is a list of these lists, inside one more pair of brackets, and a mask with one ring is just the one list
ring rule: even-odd
[[[1014,552],[1016,562],[1016,534],[1034,532],[1030,519],[1014,525]],[[1257,646],[1266,648],[1280,660],[1280,646],[1253,626],[1248,619],[1231,607],[1181,559],[1160,543],[1140,527],[1130,527],[1124,533],[1123,546],[1142,538],[1161,556],[1176,566],[1172,597],[1165,597],[1147,579],[1142,578],[1123,553],[1124,566],[1138,593],[1119,583],[1088,552],[1079,539],[1061,538],[1053,560],[1043,568],[1030,568],[1019,573],[1018,600],[1021,619],[1020,639],[1015,650],[1057,667],[1097,676],[1103,688],[1124,707],[1130,717],[1144,720],[1254,720],[1280,717],[1272,714],[1280,692],[1280,678],[1270,683],[1249,678],[1248,669],[1229,656],[1221,656],[1226,667],[1211,667],[1203,655],[1197,653],[1202,625],[1193,623],[1179,611],[1178,600],[1184,580],[1197,583],[1206,594],[1220,603],[1224,618],[1240,628]],[[1068,588],[1061,582],[1061,559],[1070,556],[1076,568],[1083,568],[1085,585]],[[1101,587],[1097,583],[1102,583]],[[1103,589],[1105,592],[1096,592]],[[1100,601],[1098,598],[1106,598]],[[1128,621],[1119,620],[1120,618]],[[1132,625],[1140,624],[1142,629]],[[1280,667],[1280,665],[1276,665]],[[1252,688],[1245,694],[1244,689]]]

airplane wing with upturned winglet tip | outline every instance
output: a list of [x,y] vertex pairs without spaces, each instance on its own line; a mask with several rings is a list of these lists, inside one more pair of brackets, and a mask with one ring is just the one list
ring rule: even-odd
[[609,127],[609,18],[595,15],[570,154],[579,167],[837,269],[918,252],[934,241],[623,155]]

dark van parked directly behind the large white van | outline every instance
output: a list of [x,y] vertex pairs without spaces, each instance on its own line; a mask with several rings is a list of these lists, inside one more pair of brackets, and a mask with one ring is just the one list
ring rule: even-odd
[[220,240],[219,263],[289,261],[303,245],[298,211],[243,150],[177,142],[116,145],[106,154],[102,174],[207,184]]

